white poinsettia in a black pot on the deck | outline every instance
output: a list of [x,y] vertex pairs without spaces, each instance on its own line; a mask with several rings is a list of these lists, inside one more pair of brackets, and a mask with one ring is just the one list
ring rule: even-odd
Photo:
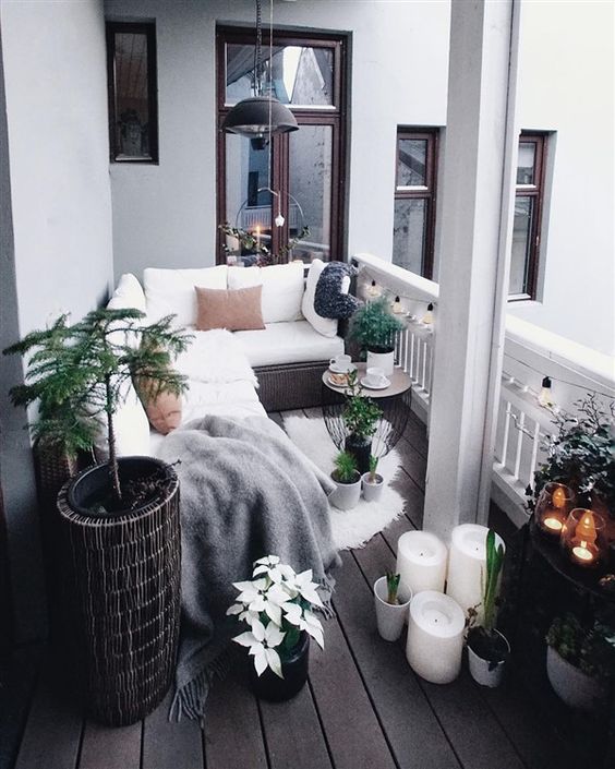
[[254,563],[252,580],[233,582],[239,590],[227,610],[250,630],[233,638],[254,660],[252,686],[258,697],[281,701],[305,684],[310,637],[324,648],[323,626],[312,611],[323,608],[312,569],[296,574],[277,555]]

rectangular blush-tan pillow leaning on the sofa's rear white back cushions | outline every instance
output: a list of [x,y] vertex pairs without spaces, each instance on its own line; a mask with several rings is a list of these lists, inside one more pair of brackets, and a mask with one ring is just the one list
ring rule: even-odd
[[229,332],[251,332],[265,328],[261,311],[263,286],[251,288],[201,288],[196,291],[196,331],[226,328]]

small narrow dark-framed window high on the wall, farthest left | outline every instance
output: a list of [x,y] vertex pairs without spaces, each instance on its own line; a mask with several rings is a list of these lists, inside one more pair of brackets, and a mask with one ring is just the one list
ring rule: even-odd
[[156,25],[107,22],[112,163],[158,163]]

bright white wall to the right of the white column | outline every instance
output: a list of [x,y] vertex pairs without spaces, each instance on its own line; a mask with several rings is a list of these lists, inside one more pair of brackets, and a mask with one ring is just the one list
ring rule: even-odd
[[[509,311],[615,355],[615,5],[526,0],[518,116],[555,131],[542,302]],[[544,221],[544,219],[543,219]]]

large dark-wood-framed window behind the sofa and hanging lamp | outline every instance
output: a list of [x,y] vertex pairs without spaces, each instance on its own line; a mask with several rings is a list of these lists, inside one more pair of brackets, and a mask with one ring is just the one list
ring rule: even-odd
[[[292,93],[286,94],[288,98],[285,104],[292,110],[300,128],[299,131],[273,137],[270,168],[268,148],[258,152],[251,147],[248,139],[221,131],[221,123],[233,104],[252,95],[246,92],[245,84],[254,58],[254,43],[253,28],[220,26],[217,29],[218,224],[228,221],[231,227],[255,231],[257,217],[261,216],[264,223],[258,232],[261,237],[268,238],[274,254],[292,240],[303,224],[310,227],[310,235],[296,247],[290,259],[299,257],[306,262],[316,255],[324,260],[342,259],[347,115],[345,37],[326,33],[302,35],[274,31],[270,65],[276,96],[278,88],[284,89],[288,82],[284,51],[290,48],[291,53],[292,49],[294,52],[301,51],[300,56],[308,60],[306,68],[312,64],[308,70],[312,100],[302,103],[302,94],[298,96],[296,93],[301,92],[297,85]],[[265,65],[268,65],[268,57],[269,34],[263,31]],[[301,61],[294,62],[294,67],[300,67]],[[284,72],[279,71],[280,65]],[[241,76],[245,93],[240,93],[238,88]],[[313,98],[313,79],[316,77],[321,91]],[[315,169],[319,176],[315,176]],[[311,190],[318,188],[310,200],[306,200],[310,184],[303,178],[304,173],[312,175]],[[278,194],[272,195],[264,189],[269,181],[270,188]],[[272,223],[278,213],[284,216],[285,224],[274,227]],[[218,230],[219,264],[227,259],[222,248],[224,237]]]

